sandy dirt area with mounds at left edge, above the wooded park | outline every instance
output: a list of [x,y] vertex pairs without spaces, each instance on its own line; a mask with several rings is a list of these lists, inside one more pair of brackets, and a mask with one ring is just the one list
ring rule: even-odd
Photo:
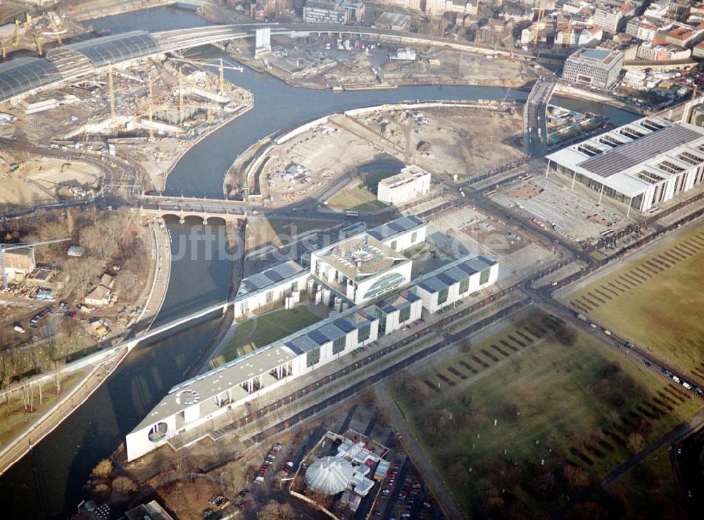
[[101,172],[85,163],[0,154],[0,211],[82,197],[98,187]]

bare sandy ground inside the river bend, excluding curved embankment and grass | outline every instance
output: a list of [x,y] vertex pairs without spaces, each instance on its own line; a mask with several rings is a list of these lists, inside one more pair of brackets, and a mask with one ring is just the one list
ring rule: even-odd
[[277,204],[310,197],[385,153],[434,175],[484,173],[522,156],[522,116],[495,105],[335,114],[272,147],[259,170],[261,192]]

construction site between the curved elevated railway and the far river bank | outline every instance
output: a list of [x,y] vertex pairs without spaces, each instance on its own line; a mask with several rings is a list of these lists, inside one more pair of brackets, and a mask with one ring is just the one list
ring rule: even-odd
[[[503,56],[432,46],[399,47],[354,37],[272,37],[272,50],[251,60],[238,42],[232,56],[296,87],[335,90],[401,85],[498,85],[522,87],[534,66]],[[250,44],[251,45],[251,44]]]

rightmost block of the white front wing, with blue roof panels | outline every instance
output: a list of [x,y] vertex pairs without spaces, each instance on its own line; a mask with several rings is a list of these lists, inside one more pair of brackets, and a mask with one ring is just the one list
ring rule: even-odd
[[435,313],[449,307],[472,292],[494,285],[498,279],[498,263],[485,256],[459,259],[442,266],[417,280],[416,291],[423,309]]

